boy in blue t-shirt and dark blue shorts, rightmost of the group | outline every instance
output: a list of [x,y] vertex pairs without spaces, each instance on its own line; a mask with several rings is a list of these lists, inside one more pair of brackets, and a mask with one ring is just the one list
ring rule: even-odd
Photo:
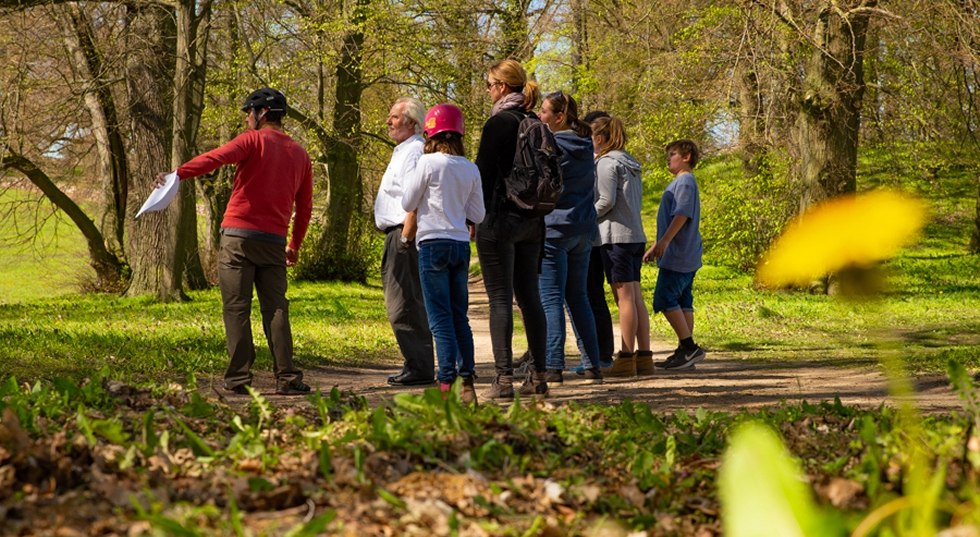
[[704,360],[704,349],[694,342],[694,275],[701,268],[701,197],[691,170],[700,156],[690,140],[667,144],[667,170],[674,180],[667,185],[657,211],[657,242],[643,254],[643,261],[657,260],[660,267],[653,291],[653,312],[663,312],[680,345],[657,365],[664,369],[689,369]]

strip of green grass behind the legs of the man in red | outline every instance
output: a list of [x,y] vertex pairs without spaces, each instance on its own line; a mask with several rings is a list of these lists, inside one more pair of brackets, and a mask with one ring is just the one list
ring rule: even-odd
[[[399,356],[380,287],[293,283],[289,296],[301,365],[390,365]],[[252,329],[256,367],[271,368],[257,311]],[[3,305],[0,346],[0,376],[25,379],[81,378],[106,366],[123,377],[183,379],[227,364],[217,290],[186,303],[75,295]]]

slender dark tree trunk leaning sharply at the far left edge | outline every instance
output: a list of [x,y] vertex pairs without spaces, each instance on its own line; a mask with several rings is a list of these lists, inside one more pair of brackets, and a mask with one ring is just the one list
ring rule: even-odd
[[122,282],[122,261],[105,247],[105,238],[85,211],[61,191],[44,171],[33,162],[7,150],[0,158],[0,170],[13,168],[23,173],[51,203],[64,211],[78,227],[88,244],[89,264],[95,269],[99,289],[115,289]]

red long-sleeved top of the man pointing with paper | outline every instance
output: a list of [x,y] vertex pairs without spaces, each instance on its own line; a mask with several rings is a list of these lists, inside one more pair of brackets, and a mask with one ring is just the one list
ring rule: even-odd
[[183,164],[177,176],[189,179],[225,164],[238,166],[221,227],[285,237],[295,204],[289,247],[299,250],[313,211],[313,168],[306,150],[281,131],[248,130]]

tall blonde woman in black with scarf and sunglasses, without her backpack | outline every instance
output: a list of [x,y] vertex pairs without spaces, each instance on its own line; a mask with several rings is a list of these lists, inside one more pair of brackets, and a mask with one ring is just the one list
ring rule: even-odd
[[476,250],[483,284],[490,300],[490,340],[495,376],[487,396],[513,399],[513,300],[521,309],[533,372],[520,387],[524,396],[545,397],[547,322],[538,292],[538,272],[544,241],[544,220],[522,212],[507,199],[504,179],[511,173],[521,121],[533,115],[540,93],[515,60],[499,61],[487,72],[487,92],[493,101],[483,126],[476,165],[483,182],[487,216],[476,231]]

